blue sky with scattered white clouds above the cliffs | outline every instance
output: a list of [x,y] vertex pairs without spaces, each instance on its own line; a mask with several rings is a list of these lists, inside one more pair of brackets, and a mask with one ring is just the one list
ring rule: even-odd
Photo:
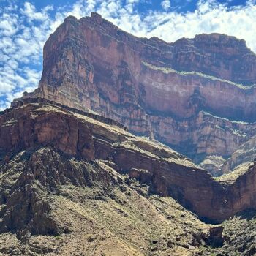
[[91,11],[138,37],[173,42],[219,32],[246,39],[256,52],[256,0],[0,0],[0,110],[37,87],[49,34],[67,15]]

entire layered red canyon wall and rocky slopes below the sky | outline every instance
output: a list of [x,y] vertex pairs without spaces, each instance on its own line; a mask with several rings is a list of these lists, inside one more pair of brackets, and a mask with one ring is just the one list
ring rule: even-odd
[[[256,55],[69,16],[0,113],[0,254],[255,255]],[[218,176],[218,177],[214,177]]]

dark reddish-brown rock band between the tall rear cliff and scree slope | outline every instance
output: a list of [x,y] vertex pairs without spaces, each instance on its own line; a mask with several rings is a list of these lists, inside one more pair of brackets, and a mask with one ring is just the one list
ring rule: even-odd
[[[135,137],[121,127],[99,120],[97,116],[89,118],[57,105],[40,102],[40,99],[39,103],[5,110],[0,116],[2,159],[8,161],[15,152],[50,146],[62,154],[87,162],[104,160],[118,173],[148,184],[151,193],[173,197],[201,219],[214,222],[221,222],[239,211],[256,207],[254,165],[236,182],[220,184],[206,170],[201,170],[176,151]],[[48,166],[46,173],[48,169],[52,171],[61,166],[55,163],[53,167],[45,161],[42,165]],[[29,166],[26,170],[37,171],[37,166]],[[66,169],[71,170],[70,167]],[[64,176],[69,177],[68,170]],[[63,178],[60,172],[61,169],[57,171],[59,178],[55,178],[61,183]],[[29,176],[26,174],[26,177]],[[80,173],[80,176],[85,174]],[[26,180],[23,176],[20,179]],[[46,186],[44,178],[42,179],[40,182]],[[76,185],[86,182],[80,181],[78,176],[70,179]],[[12,210],[7,200],[7,208],[2,211],[4,219],[12,216],[10,212]],[[10,223],[13,224],[12,220]]]

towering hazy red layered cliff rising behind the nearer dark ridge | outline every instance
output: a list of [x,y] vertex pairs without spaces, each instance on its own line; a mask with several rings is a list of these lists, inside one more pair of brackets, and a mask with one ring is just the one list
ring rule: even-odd
[[137,38],[92,13],[50,35],[39,89],[23,98],[94,110],[200,162],[255,135],[255,60],[235,37]]

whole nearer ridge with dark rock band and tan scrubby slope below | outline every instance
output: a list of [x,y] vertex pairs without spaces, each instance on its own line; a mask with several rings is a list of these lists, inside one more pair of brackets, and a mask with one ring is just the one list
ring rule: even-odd
[[115,121],[42,99],[1,113],[0,148],[3,255],[255,252],[253,233],[245,249],[236,244],[233,222],[244,222],[225,222],[224,237],[223,227],[199,220],[256,207],[254,164],[215,181]]

